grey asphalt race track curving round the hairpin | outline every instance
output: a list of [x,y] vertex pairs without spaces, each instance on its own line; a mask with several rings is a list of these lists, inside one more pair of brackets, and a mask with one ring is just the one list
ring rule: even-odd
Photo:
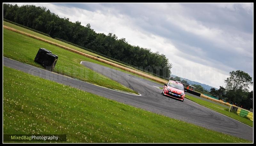
[[9,66],[47,80],[76,87],[86,92],[97,94],[108,99],[142,108],[157,114],[165,115],[188,123],[193,123],[207,129],[212,129],[251,141],[253,140],[252,127],[215,112],[209,108],[205,108],[204,106],[201,106],[188,99],[181,102],[179,100],[163,96],[161,94],[162,90],[158,88],[162,87],[161,84],[157,84],[155,82],[151,82],[149,80],[145,80],[95,63],[81,62],[81,64],[137,91],[141,94],[141,96],[109,90],[107,88],[95,86],[87,82],[76,80],[57,73],[52,73],[44,69],[3,57],[4,66]]

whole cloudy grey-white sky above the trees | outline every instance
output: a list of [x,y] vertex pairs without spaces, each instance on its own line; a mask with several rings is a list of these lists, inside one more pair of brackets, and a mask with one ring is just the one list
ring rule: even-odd
[[253,78],[252,3],[29,4],[164,53],[173,65],[172,74],[182,78],[216,88],[225,86],[233,70]]

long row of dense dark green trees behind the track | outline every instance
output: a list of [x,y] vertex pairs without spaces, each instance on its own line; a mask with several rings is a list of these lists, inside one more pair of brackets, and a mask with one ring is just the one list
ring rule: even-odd
[[45,7],[4,3],[3,17],[46,33],[52,38],[60,38],[89,48],[164,78],[170,77],[172,64],[164,54],[152,52],[148,48],[130,45],[125,38],[118,39],[113,33],[108,33],[108,35],[96,33],[90,24],[83,26],[79,21],[70,22],[69,18],[60,18]]

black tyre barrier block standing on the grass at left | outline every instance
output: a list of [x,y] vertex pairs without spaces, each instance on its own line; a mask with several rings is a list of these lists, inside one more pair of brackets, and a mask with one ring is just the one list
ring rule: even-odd
[[36,57],[35,62],[43,66],[45,69],[52,71],[52,69],[55,67],[58,60],[58,56],[55,54],[52,54],[51,51],[39,48]]

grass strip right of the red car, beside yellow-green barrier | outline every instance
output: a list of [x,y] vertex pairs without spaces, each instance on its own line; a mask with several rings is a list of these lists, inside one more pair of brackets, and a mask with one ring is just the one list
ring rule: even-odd
[[220,106],[218,104],[214,104],[214,103],[209,102],[209,101],[204,101],[202,99],[198,99],[196,97],[189,96],[189,95],[186,95],[185,98],[187,98],[187,99],[189,99],[191,101],[194,101],[194,102],[196,102],[196,103],[198,103],[198,104],[200,104],[200,105],[202,105],[204,107],[210,108],[210,109],[212,109],[212,110],[214,110],[216,112],[219,112],[219,113],[221,113],[223,115],[231,117],[231,118],[233,118],[233,119],[235,119],[235,120],[237,120],[239,122],[242,122],[242,123],[244,123],[246,125],[249,125],[249,126],[253,127],[253,121],[251,121],[249,119],[246,119],[244,117],[241,117],[240,115],[237,115],[235,113],[231,113],[231,112],[227,111],[227,108],[224,108],[224,107],[222,107],[222,106]]

